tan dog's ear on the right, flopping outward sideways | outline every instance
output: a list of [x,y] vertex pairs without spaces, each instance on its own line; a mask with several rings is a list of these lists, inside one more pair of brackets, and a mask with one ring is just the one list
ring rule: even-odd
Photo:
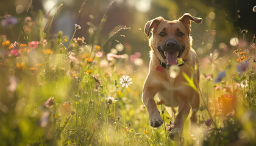
[[202,18],[197,18],[195,16],[191,16],[190,13],[185,13],[182,17],[179,18],[179,21],[183,23],[183,25],[186,27],[188,33],[190,33],[190,21],[193,21],[196,24],[202,23]]

